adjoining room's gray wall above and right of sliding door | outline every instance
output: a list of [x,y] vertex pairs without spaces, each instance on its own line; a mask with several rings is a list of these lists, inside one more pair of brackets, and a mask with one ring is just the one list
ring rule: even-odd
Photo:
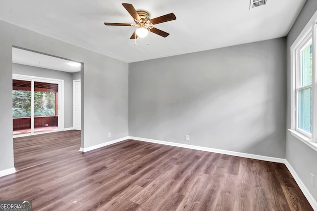
[[[33,67],[22,64],[12,64],[12,73],[64,80],[64,128],[73,127],[73,75],[72,73]],[[80,73],[80,72],[79,72]],[[80,75],[79,75],[80,77]],[[80,79],[80,78],[79,78]]]

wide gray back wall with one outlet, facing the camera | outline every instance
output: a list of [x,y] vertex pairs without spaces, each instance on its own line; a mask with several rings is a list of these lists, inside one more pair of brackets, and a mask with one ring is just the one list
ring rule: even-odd
[[130,63],[129,135],[285,158],[285,49],[280,38]]

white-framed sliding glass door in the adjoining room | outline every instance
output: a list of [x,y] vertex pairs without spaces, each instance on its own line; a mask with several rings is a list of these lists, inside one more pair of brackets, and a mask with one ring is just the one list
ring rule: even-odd
[[13,77],[13,135],[60,130],[59,86],[59,81]]

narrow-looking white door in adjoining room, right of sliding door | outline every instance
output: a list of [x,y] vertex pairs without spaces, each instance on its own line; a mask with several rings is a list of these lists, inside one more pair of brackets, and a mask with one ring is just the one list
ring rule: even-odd
[[73,127],[81,130],[80,80],[73,80]]

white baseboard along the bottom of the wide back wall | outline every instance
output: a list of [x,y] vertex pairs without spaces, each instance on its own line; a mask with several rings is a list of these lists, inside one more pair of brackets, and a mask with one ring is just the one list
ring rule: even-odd
[[262,155],[254,155],[254,154],[248,154],[248,153],[242,153],[242,152],[227,151],[227,150],[214,149],[214,148],[209,148],[209,147],[194,146],[194,145],[189,145],[189,144],[180,144],[180,143],[175,143],[175,142],[160,141],[160,140],[155,140],[155,139],[140,138],[140,137],[134,137],[134,136],[129,136],[129,139],[134,139],[134,140],[138,140],[138,141],[146,141],[146,142],[157,143],[157,144],[164,144],[164,145],[175,146],[175,147],[183,147],[183,148],[188,148],[188,149],[196,149],[196,150],[220,153],[220,154],[225,154],[225,155],[233,155],[233,156],[238,156],[238,157],[243,157],[243,158],[262,160],[262,161],[270,161],[270,162],[275,162],[275,163],[285,163],[285,159],[282,159],[282,158],[274,158],[274,157],[268,157],[268,156],[262,156]]

